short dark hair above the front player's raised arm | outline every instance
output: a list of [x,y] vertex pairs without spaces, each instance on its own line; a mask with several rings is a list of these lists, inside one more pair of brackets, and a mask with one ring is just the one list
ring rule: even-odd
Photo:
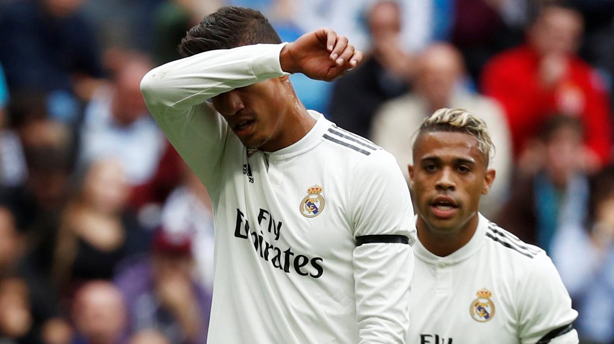
[[181,56],[187,57],[259,43],[279,44],[281,39],[259,11],[227,6],[207,15],[191,28],[178,48]]

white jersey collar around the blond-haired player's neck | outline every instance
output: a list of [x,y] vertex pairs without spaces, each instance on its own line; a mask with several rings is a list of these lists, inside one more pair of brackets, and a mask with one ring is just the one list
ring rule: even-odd
[[[416,215],[416,219],[418,219],[418,215]],[[448,254],[448,256],[440,257],[427,250],[417,237],[416,244],[414,245],[414,253],[419,259],[430,264],[446,264],[449,266],[457,264],[469,258],[480,249],[484,243],[484,235],[486,235],[487,227],[488,220],[481,213],[478,213],[478,227],[475,233],[473,233],[471,240],[469,240],[465,246]]]

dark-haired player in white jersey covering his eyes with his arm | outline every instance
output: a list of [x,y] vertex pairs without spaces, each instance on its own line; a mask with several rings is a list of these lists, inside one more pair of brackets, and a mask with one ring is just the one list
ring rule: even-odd
[[179,49],[141,90],[211,195],[209,343],[405,343],[415,229],[402,174],[288,80],[332,80],[362,53],[330,29],[281,44],[241,7],[205,17]]

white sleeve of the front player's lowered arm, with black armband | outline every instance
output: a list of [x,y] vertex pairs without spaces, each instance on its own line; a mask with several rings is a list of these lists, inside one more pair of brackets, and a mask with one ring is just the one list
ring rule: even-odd
[[[389,153],[373,155],[363,159],[354,183],[349,183],[354,237],[398,235],[413,245],[416,230],[408,186]],[[363,243],[354,249],[353,260],[359,343],[405,343],[414,270],[411,246]]]

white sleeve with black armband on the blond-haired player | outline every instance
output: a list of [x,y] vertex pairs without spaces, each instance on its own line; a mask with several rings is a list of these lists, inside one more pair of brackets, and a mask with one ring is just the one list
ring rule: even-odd
[[519,338],[522,344],[577,344],[572,327],[578,312],[545,252],[537,254],[526,277],[519,282],[516,300]]

